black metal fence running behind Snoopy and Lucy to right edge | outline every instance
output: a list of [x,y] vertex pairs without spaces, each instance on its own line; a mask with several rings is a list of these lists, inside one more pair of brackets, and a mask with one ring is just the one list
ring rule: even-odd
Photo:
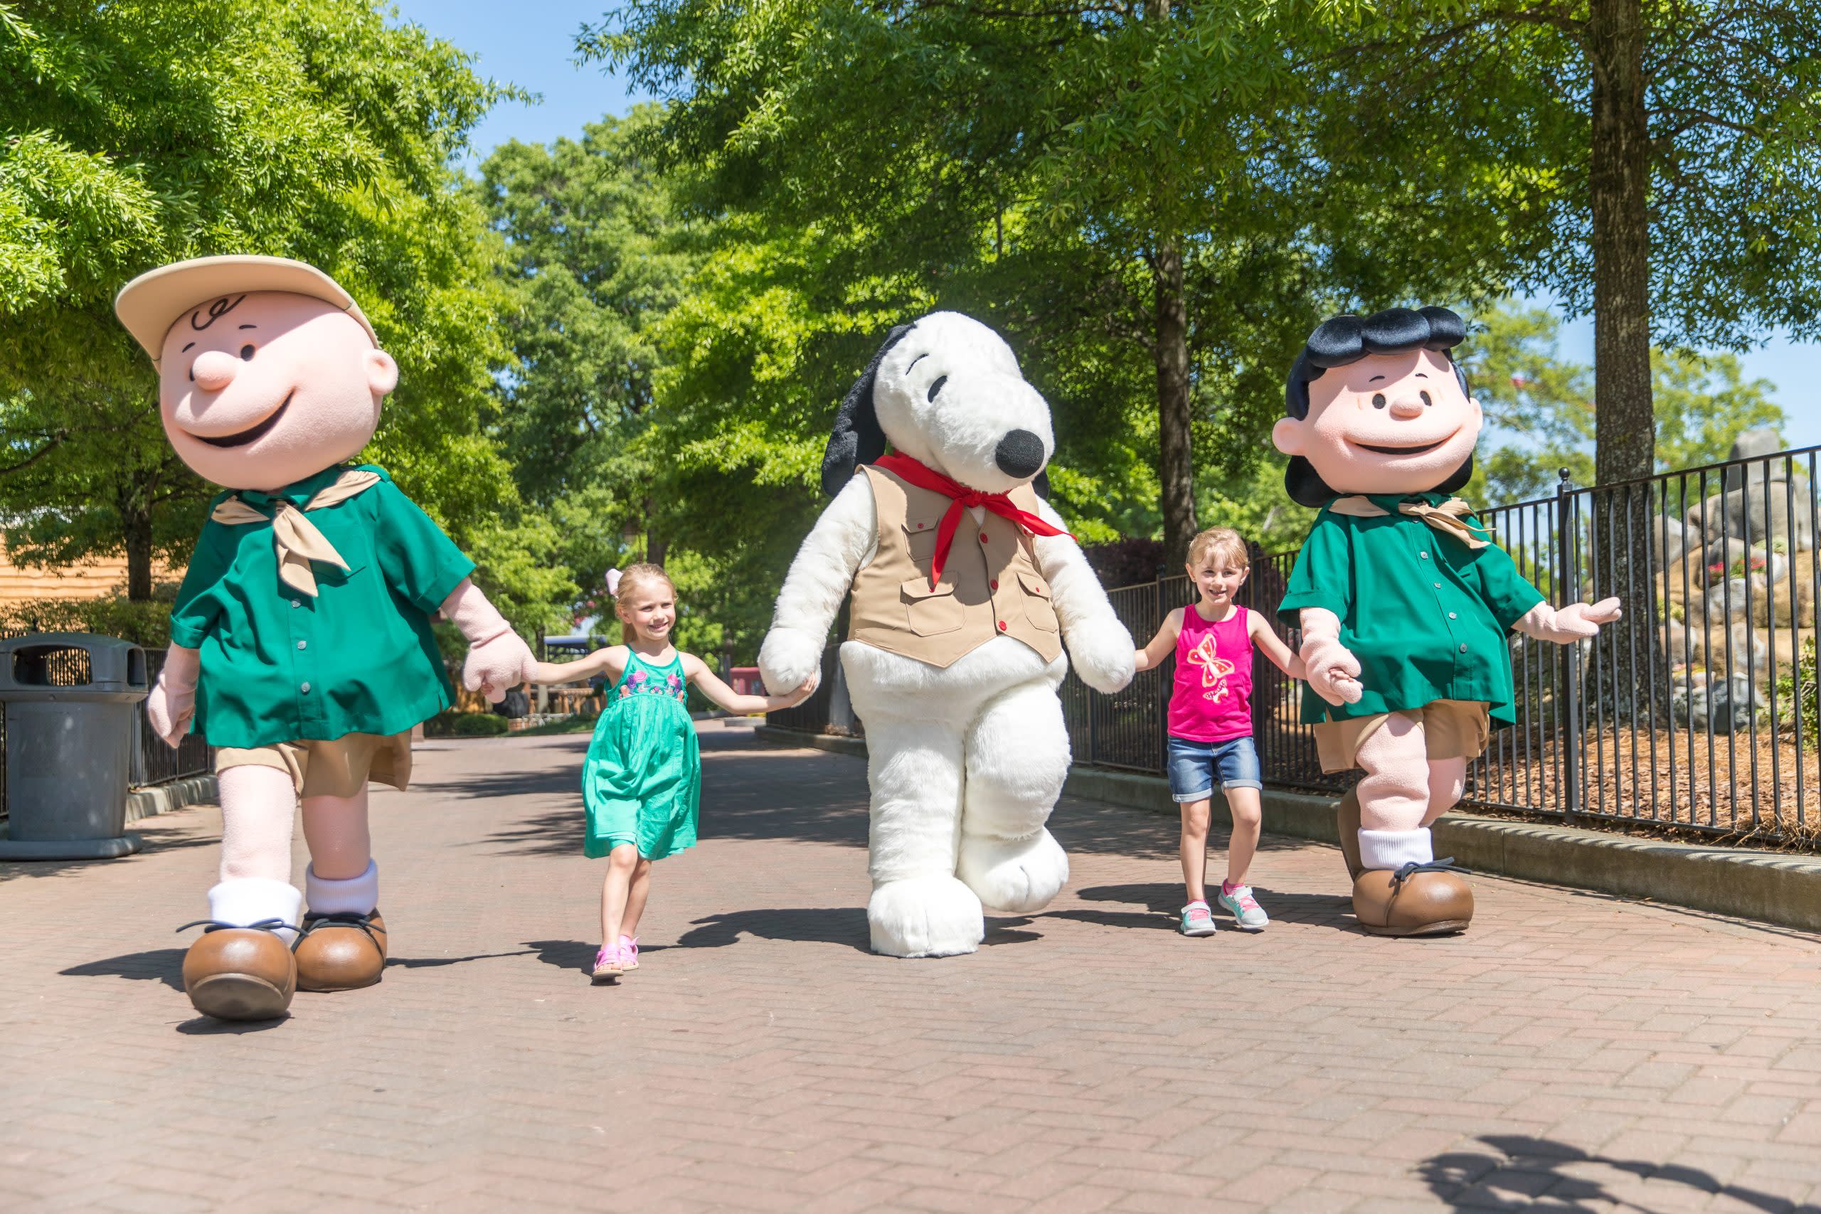
[[[1517,724],[1468,768],[1464,804],[1561,819],[1655,823],[1734,839],[1821,839],[1821,704],[1816,637],[1817,455],[1779,451],[1623,484],[1573,488],[1480,511],[1551,602],[1617,595],[1626,619],[1592,642],[1513,637]],[[1240,593],[1291,648],[1277,619],[1295,551],[1256,557]],[[1144,644],[1189,602],[1187,577],[1109,592]],[[778,724],[829,721],[823,690]],[[1173,661],[1116,695],[1062,686],[1076,763],[1164,772]],[[1253,663],[1253,733],[1266,783],[1342,792],[1300,723],[1302,686]]]

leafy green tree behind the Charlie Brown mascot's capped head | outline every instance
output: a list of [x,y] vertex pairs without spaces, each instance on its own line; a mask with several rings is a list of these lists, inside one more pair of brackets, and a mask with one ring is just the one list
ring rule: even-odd
[[512,531],[481,426],[499,295],[450,167],[499,89],[461,51],[370,0],[35,0],[0,4],[0,515],[20,559],[126,551],[144,599],[153,555],[186,557],[211,490],[171,455],[111,302],[208,253],[297,257],[361,298],[401,364],[368,457],[457,541]]

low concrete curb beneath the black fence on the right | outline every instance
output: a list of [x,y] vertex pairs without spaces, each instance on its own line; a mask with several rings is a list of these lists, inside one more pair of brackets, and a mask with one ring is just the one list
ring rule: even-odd
[[[821,737],[774,726],[759,726],[758,735],[783,746],[814,746],[849,755],[867,752],[867,743],[860,737]],[[1162,775],[1074,766],[1069,768],[1063,792],[1087,801],[1176,815],[1169,781]],[[1218,795],[1213,819],[1220,826],[1233,825]],[[1317,843],[1338,843],[1340,837],[1331,797],[1267,788],[1264,821],[1278,835]],[[1473,872],[1821,932],[1821,859],[1639,839],[1480,814],[1448,814],[1433,830],[1437,854],[1453,855]],[[1335,877],[1338,888],[1346,879],[1338,857]]]

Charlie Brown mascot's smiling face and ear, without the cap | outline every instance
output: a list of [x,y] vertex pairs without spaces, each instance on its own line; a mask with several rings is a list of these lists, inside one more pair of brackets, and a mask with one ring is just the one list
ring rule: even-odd
[[342,309],[253,291],[204,300],[171,326],[158,413],[197,475],[279,490],[357,455],[397,382],[392,355]]

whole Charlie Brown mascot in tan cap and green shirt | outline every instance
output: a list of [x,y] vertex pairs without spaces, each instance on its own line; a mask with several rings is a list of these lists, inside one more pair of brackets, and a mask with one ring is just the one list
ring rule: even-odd
[[[333,278],[204,257],[140,275],[115,311],[158,369],[177,455],[228,488],[146,701],[166,743],[193,724],[217,748],[220,881],[184,990],[204,1016],[268,1019],[299,986],[379,981],[366,784],[404,788],[412,726],[450,703],[432,617],[461,628],[463,677],[492,699],[532,653],[468,581],[473,562],[382,470],[350,462],[399,368]],[[304,892],[290,881],[299,799]]]

